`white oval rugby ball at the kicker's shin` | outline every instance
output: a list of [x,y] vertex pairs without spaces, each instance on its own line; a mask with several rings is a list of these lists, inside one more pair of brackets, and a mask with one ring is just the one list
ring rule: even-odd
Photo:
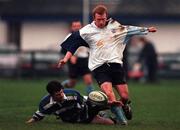
[[108,97],[101,91],[92,91],[88,95],[88,101],[94,105],[107,105]]

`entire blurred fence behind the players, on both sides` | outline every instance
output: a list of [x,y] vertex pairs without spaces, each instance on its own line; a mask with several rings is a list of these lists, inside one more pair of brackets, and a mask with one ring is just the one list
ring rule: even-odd
[[[67,74],[67,67],[57,68],[62,55],[57,51],[0,51],[0,77],[52,77]],[[138,54],[129,54],[128,71],[132,71]],[[158,55],[158,76],[180,78],[180,53]]]

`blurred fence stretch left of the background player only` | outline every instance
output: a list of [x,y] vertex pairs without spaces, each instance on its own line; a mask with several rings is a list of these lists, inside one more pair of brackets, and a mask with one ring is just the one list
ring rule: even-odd
[[65,74],[59,70],[57,61],[61,55],[54,51],[1,51],[1,77],[51,77]]

